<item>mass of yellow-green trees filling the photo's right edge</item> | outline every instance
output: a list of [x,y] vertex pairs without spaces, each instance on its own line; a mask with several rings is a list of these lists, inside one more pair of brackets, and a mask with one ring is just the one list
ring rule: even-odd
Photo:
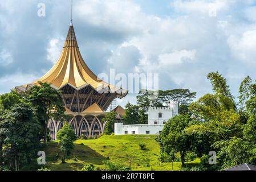
[[[241,163],[256,164],[256,85],[247,76],[239,88],[239,111],[226,79],[209,73],[214,94],[193,102],[189,109],[196,120],[185,129],[192,151],[201,156],[201,168],[225,169]],[[245,106],[246,104],[246,106]],[[217,152],[217,165],[209,165],[208,152]]]

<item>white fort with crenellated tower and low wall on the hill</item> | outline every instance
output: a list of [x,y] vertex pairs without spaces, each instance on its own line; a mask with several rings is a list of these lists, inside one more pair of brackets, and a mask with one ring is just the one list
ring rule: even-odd
[[124,125],[115,123],[115,135],[155,135],[160,134],[165,123],[178,114],[178,105],[172,107],[149,107],[148,125]]

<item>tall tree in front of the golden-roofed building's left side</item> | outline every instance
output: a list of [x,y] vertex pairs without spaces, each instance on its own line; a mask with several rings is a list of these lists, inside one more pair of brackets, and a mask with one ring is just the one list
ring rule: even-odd
[[48,83],[39,82],[39,86],[33,86],[26,97],[27,101],[36,109],[38,121],[42,125],[43,143],[45,144],[49,119],[61,120],[64,118],[65,107],[62,92],[51,88]]

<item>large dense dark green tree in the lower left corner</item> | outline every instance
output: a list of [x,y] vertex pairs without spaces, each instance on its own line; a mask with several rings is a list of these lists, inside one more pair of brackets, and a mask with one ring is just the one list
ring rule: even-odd
[[40,125],[29,104],[18,104],[7,110],[3,116],[1,130],[5,135],[5,156],[9,168],[19,170],[22,164],[36,155]]

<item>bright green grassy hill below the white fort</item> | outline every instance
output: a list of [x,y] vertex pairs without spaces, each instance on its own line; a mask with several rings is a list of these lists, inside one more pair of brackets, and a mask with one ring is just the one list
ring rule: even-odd
[[[60,158],[56,158],[56,155],[61,155],[58,143],[51,142],[44,148],[46,166],[51,170],[66,171],[81,169],[84,164],[94,164],[103,169],[102,162],[110,160],[124,166],[129,166],[129,161],[131,161],[132,170],[172,170],[172,163],[160,164],[157,156],[154,155],[160,153],[155,137],[154,135],[105,135],[94,140],[77,140],[74,151],[64,164],[59,160]],[[147,150],[140,150],[140,143],[147,144]],[[198,162],[195,160],[192,163]],[[180,167],[181,163],[174,162],[174,170],[179,170]]]

